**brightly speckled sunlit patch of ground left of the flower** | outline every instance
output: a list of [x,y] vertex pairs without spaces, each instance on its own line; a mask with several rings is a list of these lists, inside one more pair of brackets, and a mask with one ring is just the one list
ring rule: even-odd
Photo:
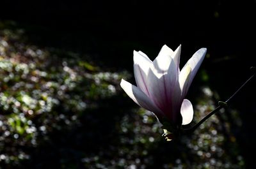
[[29,159],[24,147],[37,147],[54,130],[80,125],[86,109],[114,96],[121,77],[128,75],[92,71],[93,66],[88,70],[88,62],[78,63],[82,60],[56,59],[51,57],[56,54],[26,45],[21,34],[13,34],[17,33],[0,32],[0,161],[4,163]]

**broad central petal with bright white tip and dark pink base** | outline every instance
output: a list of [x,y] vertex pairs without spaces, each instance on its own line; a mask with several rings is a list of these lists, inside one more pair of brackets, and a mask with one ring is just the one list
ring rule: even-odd
[[169,116],[172,109],[171,94],[178,75],[172,54],[172,49],[164,45],[148,72],[150,98]]

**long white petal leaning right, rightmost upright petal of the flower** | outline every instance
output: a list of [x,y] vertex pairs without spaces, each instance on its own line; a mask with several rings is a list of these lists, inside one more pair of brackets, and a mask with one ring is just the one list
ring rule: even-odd
[[189,82],[188,82],[188,87],[186,87],[185,93],[188,92],[188,89],[200,67],[202,64],[202,61],[204,60],[205,54],[206,54],[207,49],[206,48],[200,48],[193,56],[188,60],[188,62],[185,64],[185,66],[182,68],[180,73],[183,70],[188,69],[187,67],[189,66],[191,68],[191,75],[189,76]]

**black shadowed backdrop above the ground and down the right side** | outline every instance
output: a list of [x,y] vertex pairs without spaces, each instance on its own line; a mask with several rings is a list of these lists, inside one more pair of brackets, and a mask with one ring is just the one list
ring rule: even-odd
[[[154,59],[182,44],[181,64],[207,47],[208,85],[225,100],[255,66],[255,1],[3,1],[31,44],[90,55],[102,68],[132,73],[132,51]],[[192,87],[196,84],[193,84]],[[255,79],[232,101],[243,121],[237,136],[247,168],[254,164]]]

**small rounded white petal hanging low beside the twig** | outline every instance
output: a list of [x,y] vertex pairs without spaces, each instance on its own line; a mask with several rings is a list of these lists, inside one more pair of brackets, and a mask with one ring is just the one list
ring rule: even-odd
[[182,115],[182,125],[189,124],[193,120],[193,106],[188,99],[184,99],[180,108]]

